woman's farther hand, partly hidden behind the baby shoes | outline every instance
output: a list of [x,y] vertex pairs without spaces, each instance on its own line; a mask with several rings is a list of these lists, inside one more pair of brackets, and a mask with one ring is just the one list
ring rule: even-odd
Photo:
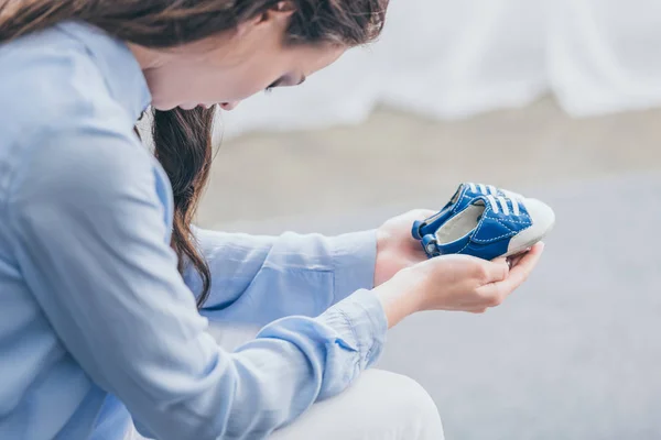
[[415,209],[386,221],[377,230],[375,287],[415,263],[427,260],[419,241],[411,235],[413,221],[424,220],[435,211]]

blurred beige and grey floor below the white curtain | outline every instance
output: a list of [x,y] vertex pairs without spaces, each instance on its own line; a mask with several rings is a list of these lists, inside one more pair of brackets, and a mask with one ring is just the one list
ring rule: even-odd
[[574,121],[544,99],[249,135],[223,145],[199,223],[333,234],[440,207],[464,179],[540,197],[557,226],[525,286],[484,316],[407,319],[378,366],[425,386],[448,439],[661,439],[660,122]]

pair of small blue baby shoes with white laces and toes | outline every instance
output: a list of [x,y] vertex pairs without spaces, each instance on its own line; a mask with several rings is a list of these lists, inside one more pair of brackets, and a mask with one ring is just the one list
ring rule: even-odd
[[430,257],[465,254],[494,260],[527,251],[554,223],[553,210],[540,200],[463,184],[438,213],[413,226],[413,237]]

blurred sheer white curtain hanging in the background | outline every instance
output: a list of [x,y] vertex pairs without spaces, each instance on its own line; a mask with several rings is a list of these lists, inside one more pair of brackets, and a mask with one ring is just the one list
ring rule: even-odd
[[452,120],[545,92],[573,117],[661,106],[661,0],[391,0],[378,43],[221,125],[355,124],[378,105]]

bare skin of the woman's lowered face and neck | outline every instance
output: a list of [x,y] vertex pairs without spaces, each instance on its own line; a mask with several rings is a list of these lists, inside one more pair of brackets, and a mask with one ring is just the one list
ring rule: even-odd
[[234,109],[271,87],[296,86],[345,52],[334,45],[285,45],[286,11],[272,10],[224,34],[177,47],[131,46],[144,72],[152,106]]

